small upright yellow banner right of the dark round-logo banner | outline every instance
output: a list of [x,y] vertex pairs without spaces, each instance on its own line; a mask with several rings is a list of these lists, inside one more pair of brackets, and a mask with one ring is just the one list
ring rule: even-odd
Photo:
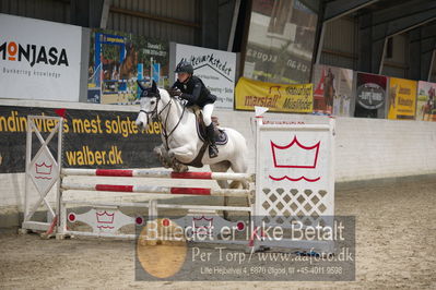
[[390,77],[388,119],[415,119],[416,87],[417,82],[415,81]]

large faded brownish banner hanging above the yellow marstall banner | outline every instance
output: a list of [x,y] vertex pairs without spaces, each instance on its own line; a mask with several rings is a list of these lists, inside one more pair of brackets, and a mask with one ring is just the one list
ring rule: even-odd
[[308,83],[317,13],[305,1],[251,2],[244,76],[271,83]]

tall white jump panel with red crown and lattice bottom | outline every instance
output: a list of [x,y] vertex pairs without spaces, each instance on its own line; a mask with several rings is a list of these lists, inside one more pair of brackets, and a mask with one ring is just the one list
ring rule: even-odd
[[257,126],[256,215],[268,225],[331,226],[334,120]]

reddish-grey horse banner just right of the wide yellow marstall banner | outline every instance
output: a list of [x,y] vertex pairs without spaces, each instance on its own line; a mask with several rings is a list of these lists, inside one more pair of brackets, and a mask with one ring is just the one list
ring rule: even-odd
[[314,65],[314,112],[350,117],[353,71]]

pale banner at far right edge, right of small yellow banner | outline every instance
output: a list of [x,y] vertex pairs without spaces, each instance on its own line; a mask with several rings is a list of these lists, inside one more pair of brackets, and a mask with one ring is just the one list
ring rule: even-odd
[[416,120],[436,121],[436,84],[417,82]]

